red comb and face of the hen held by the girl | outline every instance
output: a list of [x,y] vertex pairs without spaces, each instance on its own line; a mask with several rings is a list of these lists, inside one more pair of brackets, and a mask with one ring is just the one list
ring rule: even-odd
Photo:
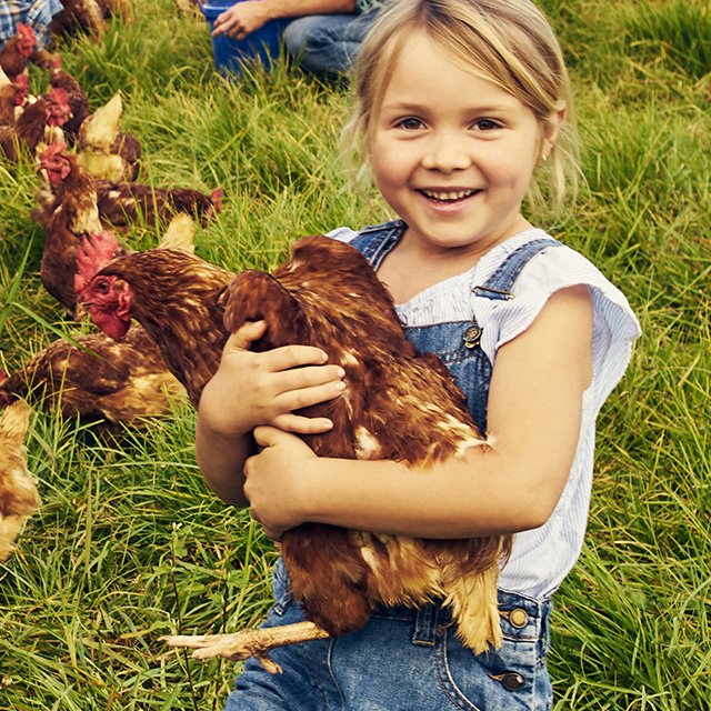
[[101,269],[119,250],[112,232],[98,232],[84,237],[77,253],[74,291],[77,301],[89,311],[91,320],[110,338],[121,338],[131,327],[131,289],[116,274]]

